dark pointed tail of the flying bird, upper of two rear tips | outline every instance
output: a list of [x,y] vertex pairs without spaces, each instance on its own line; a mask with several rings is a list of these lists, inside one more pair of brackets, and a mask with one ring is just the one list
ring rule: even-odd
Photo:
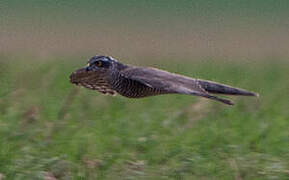
[[212,81],[198,80],[203,89],[213,94],[241,95],[241,96],[259,96],[257,93],[245,89],[235,88]]

